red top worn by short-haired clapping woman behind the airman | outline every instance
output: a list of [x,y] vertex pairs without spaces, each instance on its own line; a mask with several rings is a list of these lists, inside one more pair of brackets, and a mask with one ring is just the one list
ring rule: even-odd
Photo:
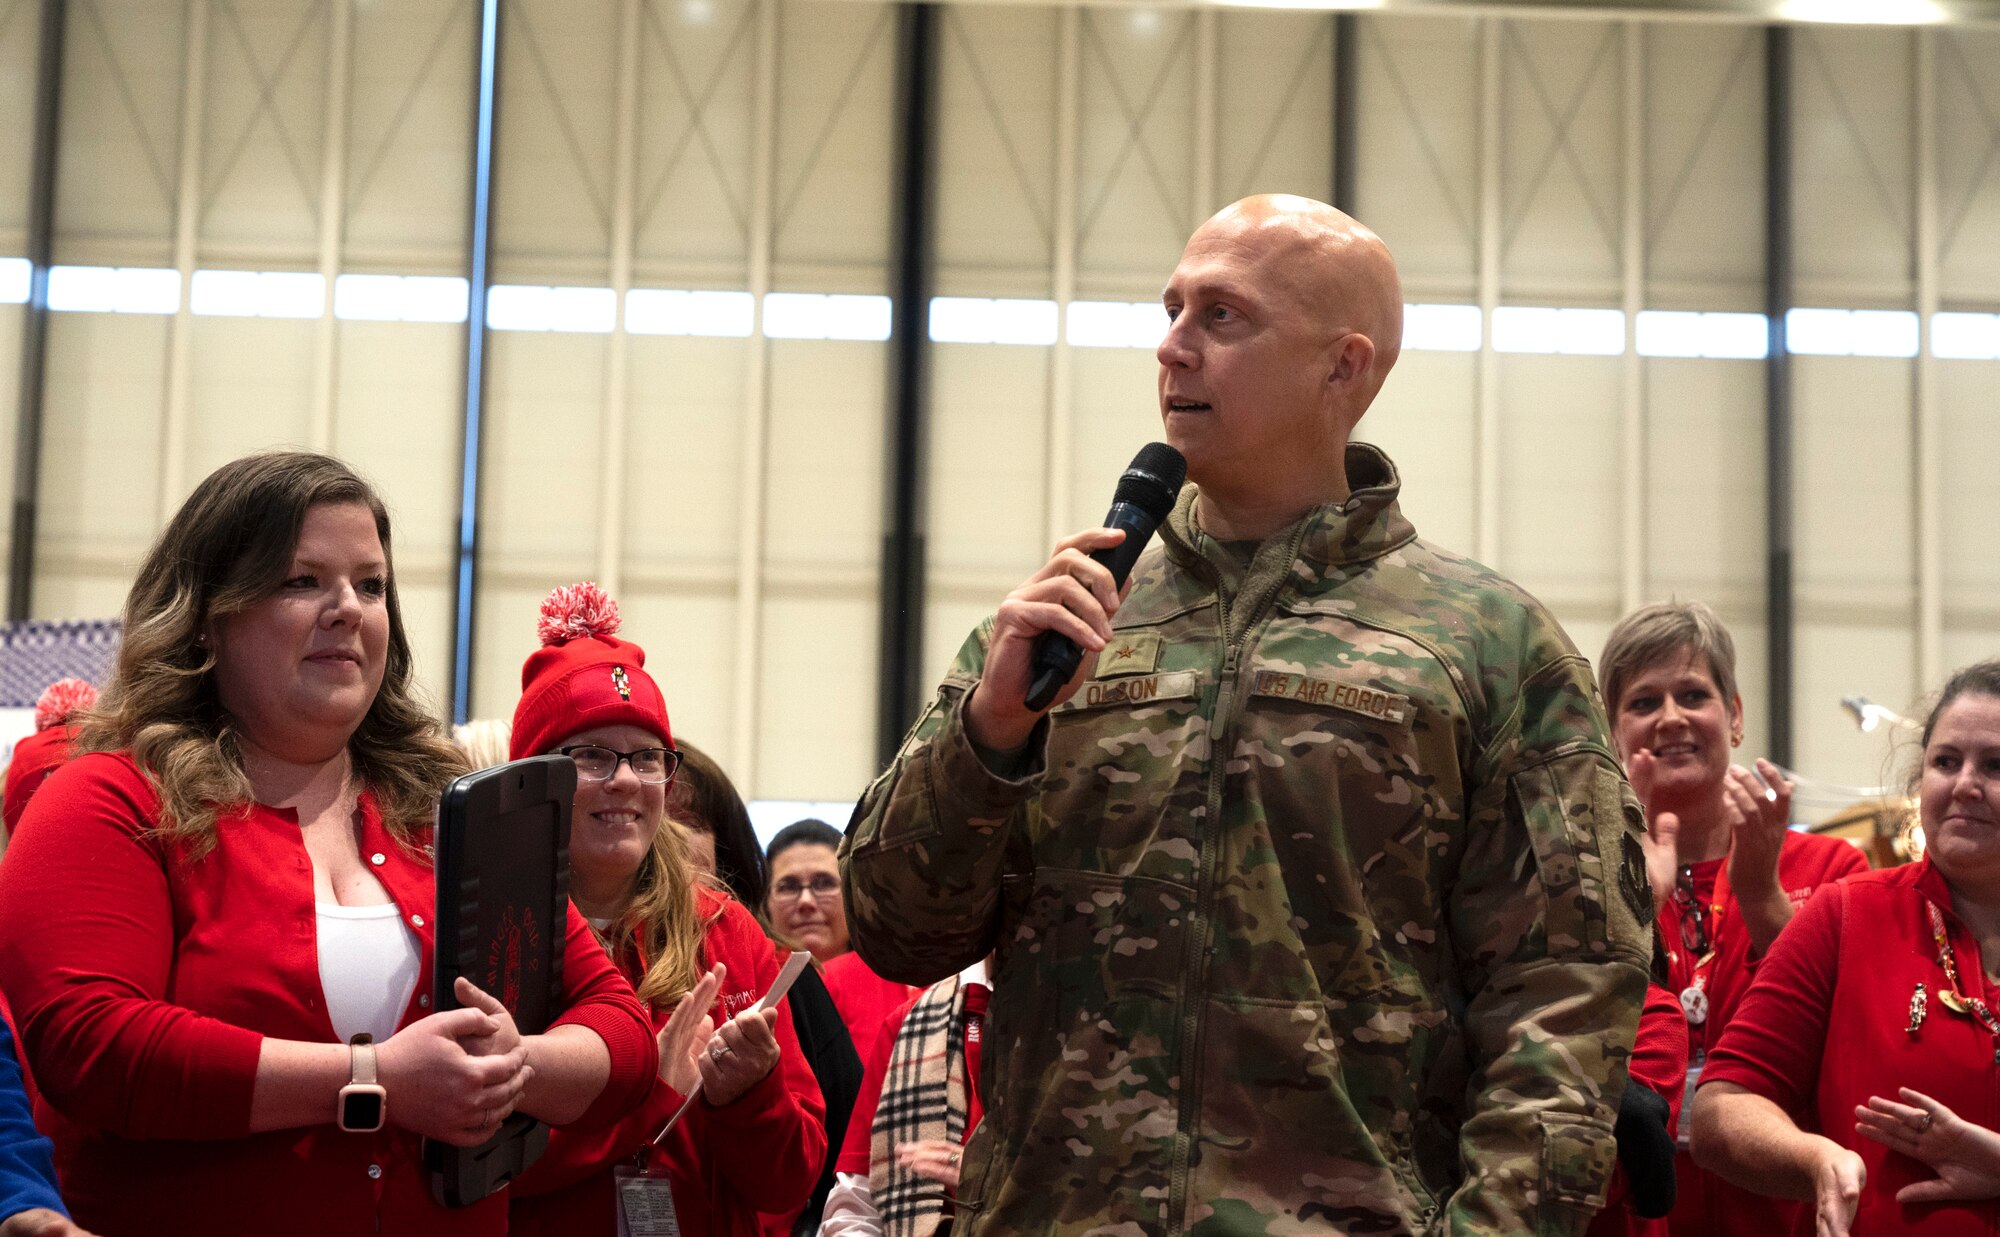
[[[1744,929],[1736,895],[1728,887],[1728,861],[1712,861],[1710,873],[1702,871],[1704,865],[1694,867],[1698,887],[1712,873],[1708,933],[1716,941],[1716,961],[1708,967],[1704,989],[1708,1021],[1700,1027],[1688,1027],[1690,1049],[1700,1055],[1712,1051],[1716,1039],[1736,1019],[1736,1007],[1750,991],[1750,981],[1756,979],[1764,959],[1750,957],[1750,933]],[[1784,849],[1778,851],[1778,887],[1792,899],[1794,909],[1802,907],[1822,885],[1866,871],[1868,859],[1852,843],[1836,837],[1794,831],[1784,835]],[[1694,981],[1696,959],[1688,957],[1682,947],[1680,907],[1674,899],[1660,907],[1658,933],[1660,941],[1666,943],[1668,987],[1678,995]],[[1688,1153],[1674,1157],[1674,1175],[1678,1197],[1674,1213],[1668,1217],[1674,1237],[1774,1237],[1788,1231],[1800,1211],[1800,1205],[1790,1199],[1766,1199],[1730,1185],[1700,1169]],[[1806,1215],[1810,1217],[1810,1211]]]

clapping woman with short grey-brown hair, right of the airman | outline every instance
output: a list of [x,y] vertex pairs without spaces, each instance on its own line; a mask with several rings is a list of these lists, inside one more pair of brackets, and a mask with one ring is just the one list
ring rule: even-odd
[[[1632,789],[1646,805],[1646,867],[1666,987],[1688,1019],[1692,1087],[1792,911],[1826,883],[1868,871],[1852,845],[1792,833],[1792,785],[1770,761],[1730,763],[1744,741],[1736,643],[1702,602],[1626,614],[1598,681]],[[1682,1119],[1686,1135],[1686,1119]],[[1686,1137],[1682,1139],[1686,1141]],[[1774,1237],[1796,1203],[1766,1199],[1676,1157],[1674,1237]]]

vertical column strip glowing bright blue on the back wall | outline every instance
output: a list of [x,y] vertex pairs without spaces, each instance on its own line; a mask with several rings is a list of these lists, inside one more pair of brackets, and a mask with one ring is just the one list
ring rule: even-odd
[[472,102],[472,228],[466,244],[466,400],[458,464],[458,570],[452,576],[452,721],[472,711],[472,627],[478,614],[480,438],[486,410],[486,286],[492,264],[494,124],[500,112],[500,0],[480,0],[478,88]]

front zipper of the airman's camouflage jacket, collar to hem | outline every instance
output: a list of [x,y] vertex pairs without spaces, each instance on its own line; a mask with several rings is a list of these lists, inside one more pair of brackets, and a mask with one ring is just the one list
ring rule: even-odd
[[[1298,546],[1306,540],[1306,530],[1312,520],[1300,520],[1298,530],[1292,532],[1286,544],[1286,572],[1290,572],[1292,562],[1298,562]],[[1284,592],[1284,578],[1280,578],[1260,600],[1256,612],[1244,623],[1234,635],[1230,633],[1230,610],[1234,608],[1228,584],[1222,572],[1216,570],[1206,556],[1196,550],[1196,560],[1208,572],[1216,584],[1218,600],[1218,625],[1222,629],[1222,681],[1216,687],[1216,709],[1210,715],[1208,725],[1208,815],[1202,825],[1202,859],[1196,871],[1194,885],[1194,907],[1188,913],[1188,947],[1182,951],[1182,979],[1186,981],[1182,991],[1186,995],[1186,1009],[1180,1015],[1180,1121],[1174,1129],[1174,1167],[1172,1177],[1168,1177],[1168,1201],[1166,1201],[1166,1231],[1170,1235],[1186,1231],[1186,1211],[1188,1211],[1188,1163],[1194,1157],[1194,1127],[1202,1111],[1202,1009],[1206,1007],[1202,995],[1202,983],[1208,977],[1208,929],[1210,911],[1208,901],[1214,897],[1216,889],[1216,847],[1222,841],[1222,787],[1228,781],[1230,763],[1230,741],[1236,731],[1236,675],[1242,663],[1244,645],[1276,604],[1278,594]],[[1250,560],[1250,570],[1256,568],[1256,556]],[[1244,580],[1250,578],[1250,570],[1244,572]]]

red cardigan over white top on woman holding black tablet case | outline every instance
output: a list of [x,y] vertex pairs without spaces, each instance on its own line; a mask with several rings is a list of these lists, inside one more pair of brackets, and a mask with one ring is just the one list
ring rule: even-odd
[[[430,1013],[434,877],[362,795],[362,857],[404,913],[422,971],[402,1025]],[[298,817],[252,805],[202,859],[152,835],[158,799],[126,755],[64,765],[0,863],[0,989],[40,1085],[38,1121],[76,1223],[126,1233],[506,1231],[504,1195],[430,1197],[414,1133],[326,1121],[250,1133],[264,1037],[336,1043],[320,995],[312,861]],[[612,1075],[586,1119],[630,1109],[656,1073],[632,987],[570,913],[568,1011]],[[390,1095],[390,1119],[396,1097]]]

